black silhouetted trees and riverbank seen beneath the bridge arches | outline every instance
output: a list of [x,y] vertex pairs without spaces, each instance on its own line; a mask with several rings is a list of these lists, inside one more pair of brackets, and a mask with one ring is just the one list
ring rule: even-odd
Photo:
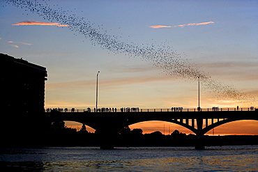
[[[107,128],[107,131],[109,129]],[[107,132],[108,133],[108,132]],[[65,126],[63,121],[45,123],[44,121],[30,121],[28,118],[18,118],[15,121],[6,121],[1,125],[2,147],[42,147],[42,146],[101,146],[103,142],[112,139],[115,147],[134,146],[195,146],[198,141],[194,134],[183,134],[174,130],[172,134],[164,135],[161,132],[142,134],[141,129],[130,130],[124,127],[115,136],[105,139],[98,132],[90,133],[86,126],[81,130]],[[258,145],[258,135],[232,136],[204,136],[204,146],[238,146]]]

